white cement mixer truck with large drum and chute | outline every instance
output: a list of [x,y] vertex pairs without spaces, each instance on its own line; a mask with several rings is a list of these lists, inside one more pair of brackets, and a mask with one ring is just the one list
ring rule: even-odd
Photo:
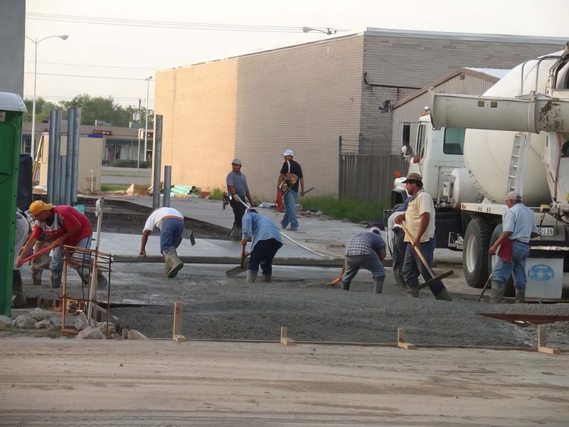
[[[482,96],[431,92],[415,145],[402,152],[435,201],[437,248],[463,251],[468,285],[486,283],[504,197],[519,191],[540,232],[531,241],[528,290],[541,284],[536,296],[546,298],[569,290],[569,43],[518,65]],[[393,205],[407,196],[401,181]]]

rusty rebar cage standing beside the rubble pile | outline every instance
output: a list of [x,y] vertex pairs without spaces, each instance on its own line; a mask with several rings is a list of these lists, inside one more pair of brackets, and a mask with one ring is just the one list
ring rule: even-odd
[[[110,321],[110,292],[111,292],[111,272],[112,272],[112,254],[110,253],[102,253],[97,249],[86,249],[86,248],[78,248],[76,246],[63,246],[63,280],[62,280],[62,288],[61,288],[61,301],[62,301],[62,310],[61,310],[61,332],[63,334],[78,334],[79,331],[71,330],[65,328],[65,315],[67,314],[68,310],[68,302],[78,302],[79,307],[83,309],[85,312],[85,306],[92,302],[94,305],[99,305],[100,301],[97,300],[97,280],[89,280],[87,284],[87,295],[90,295],[90,285],[92,283],[95,284],[95,292],[92,293],[94,295],[93,299],[90,300],[88,297],[85,298],[85,292],[83,292],[83,298],[77,297],[69,297],[67,295],[67,268],[68,265],[71,267],[77,267],[82,269],[87,266],[86,270],[89,272],[89,277],[95,271],[101,271],[106,273],[107,275],[107,330],[105,332],[105,337],[109,338],[109,321]],[[95,268],[96,267],[96,268]],[[83,285],[83,275],[81,276],[81,283]],[[95,317],[97,315],[95,314]],[[91,324],[91,319],[87,318],[87,322],[89,325]]]

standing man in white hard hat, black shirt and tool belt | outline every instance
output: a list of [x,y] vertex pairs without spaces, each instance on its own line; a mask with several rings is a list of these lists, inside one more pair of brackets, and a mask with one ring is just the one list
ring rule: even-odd
[[277,190],[283,191],[283,199],[285,201],[285,215],[282,216],[281,226],[286,229],[290,224],[289,230],[297,231],[298,188],[300,182],[300,195],[304,196],[304,177],[302,176],[302,168],[292,159],[294,156],[292,149],[285,150],[282,156],[285,157],[285,163],[282,164],[282,168],[280,169],[277,184]]

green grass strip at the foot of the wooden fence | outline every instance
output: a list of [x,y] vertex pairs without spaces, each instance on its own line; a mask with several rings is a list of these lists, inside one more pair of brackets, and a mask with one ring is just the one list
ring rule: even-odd
[[332,196],[302,197],[298,200],[303,209],[322,211],[336,219],[347,219],[356,223],[383,218],[384,204],[378,201],[357,199],[336,199]]

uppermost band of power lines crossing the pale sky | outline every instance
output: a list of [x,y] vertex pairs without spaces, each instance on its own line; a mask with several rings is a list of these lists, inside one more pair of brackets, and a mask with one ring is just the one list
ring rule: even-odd
[[[184,30],[205,30],[205,31],[252,31],[267,33],[302,33],[304,27],[297,26],[265,26],[265,25],[242,25],[242,24],[226,24],[226,23],[196,23],[196,22],[176,22],[176,21],[149,21],[146,19],[117,19],[117,18],[101,18],[98,16],[74,16],[60,14],[26,14],[28,19],[37,21],[60,21],[73,23],[92,23],[97,25],[112,26],[138,26],[153,28],[176,28]],[[314,29],[323,29],[312,27]],[[326,31],[346,31],[339,28],[325,28]]]

